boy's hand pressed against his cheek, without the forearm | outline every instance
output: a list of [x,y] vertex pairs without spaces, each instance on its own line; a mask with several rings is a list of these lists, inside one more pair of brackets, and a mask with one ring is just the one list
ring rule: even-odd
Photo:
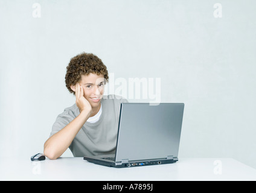
[[88,100],[86,100],[85,96],[83,96],[83,87],[80,86],[79,83],[75,84],[75,104],[80,110],[80,113],[83,110],[89,112],[89,115],[92,113],[92,106]]

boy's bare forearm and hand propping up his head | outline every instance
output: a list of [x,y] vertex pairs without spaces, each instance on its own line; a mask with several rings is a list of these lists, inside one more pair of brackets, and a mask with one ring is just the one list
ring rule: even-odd
[[43,154],[49,159],[57,159],[68,149],[78,131],[91,115],[92,107],[83,96],[83,88],[76,85],[76,90],[75,103],[80,110],[80,114],[45,142]]

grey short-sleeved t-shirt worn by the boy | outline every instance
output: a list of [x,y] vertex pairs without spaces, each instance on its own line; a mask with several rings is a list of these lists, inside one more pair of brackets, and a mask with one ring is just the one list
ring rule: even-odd
[[[121,103],[128,103],[128,101],[121,96],[103,96],[100,119],[94,123],[85,122],[69,146],[74,157],[115,153]],[[57,116],[50,136],[62,130],[79,113],[76,104],[66,108],[63,113]]]

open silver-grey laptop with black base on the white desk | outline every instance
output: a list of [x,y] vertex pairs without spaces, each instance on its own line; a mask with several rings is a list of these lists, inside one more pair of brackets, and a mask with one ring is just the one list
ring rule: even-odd
[[178,161],[184,103],[121,103],[115,154],[84,160],[116,168]]

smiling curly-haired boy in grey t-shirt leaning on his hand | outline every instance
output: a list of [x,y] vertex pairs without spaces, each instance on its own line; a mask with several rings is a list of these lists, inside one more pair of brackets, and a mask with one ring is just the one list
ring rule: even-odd
[[67,148],[75,157],[115,153],[120,105],[128,101],[103,98],[108,79],[107,68],[96,55],[83,52],[70,60],[65,81],[75,104],[57,116],[44,144],[46,157],[57,159]]

